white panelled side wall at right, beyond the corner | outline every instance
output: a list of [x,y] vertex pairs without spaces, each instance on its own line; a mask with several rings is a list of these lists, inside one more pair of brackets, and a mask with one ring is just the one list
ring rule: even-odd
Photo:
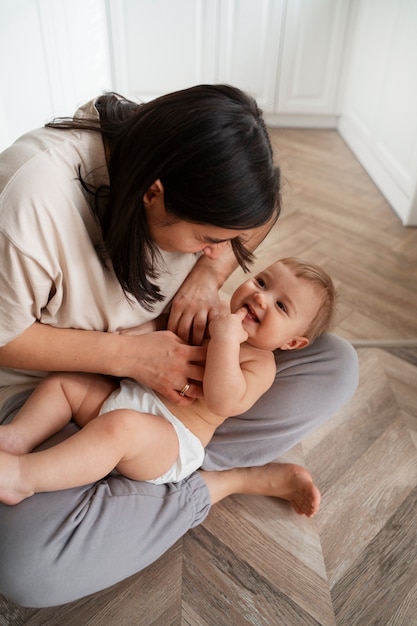
[[352,8],[338,129],[403,224],[417,225],[417,1]]

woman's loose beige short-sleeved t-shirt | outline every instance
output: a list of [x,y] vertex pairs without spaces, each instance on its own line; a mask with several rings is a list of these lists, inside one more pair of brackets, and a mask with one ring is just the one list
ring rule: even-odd
[[[77,112],[83,115],[98,115],[94,101]],[[90,185],[108,183],[100,133],[41,128],[0,155],[0,346],[36,320],[107,332],[141,324],[166,307],[196,262],[194,254],[161,251],[165,301],[149,312],[127,300],[96,253],[94,197],[79,169]],[[0,387],[33,384],[39,375],[2,369]]]

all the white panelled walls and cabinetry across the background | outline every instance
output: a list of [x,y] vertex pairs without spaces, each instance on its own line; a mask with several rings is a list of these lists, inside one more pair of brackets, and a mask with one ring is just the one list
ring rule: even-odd
[[229,82],[337,127],[417,225],[417,0],[0,0],[0,58],[0,149],[106,90]]

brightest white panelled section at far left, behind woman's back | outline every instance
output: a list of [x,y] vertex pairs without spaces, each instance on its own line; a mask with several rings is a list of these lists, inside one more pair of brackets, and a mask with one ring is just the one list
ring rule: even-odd
[[0,0],[0,150],[111,89],[103,0]]

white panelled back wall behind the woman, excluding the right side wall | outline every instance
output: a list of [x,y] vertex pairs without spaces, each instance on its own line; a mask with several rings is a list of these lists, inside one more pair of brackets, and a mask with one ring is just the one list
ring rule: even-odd
[[270,123],[335,127],[350,1],[0,0],[0,149],[110,88],[228,82]]

